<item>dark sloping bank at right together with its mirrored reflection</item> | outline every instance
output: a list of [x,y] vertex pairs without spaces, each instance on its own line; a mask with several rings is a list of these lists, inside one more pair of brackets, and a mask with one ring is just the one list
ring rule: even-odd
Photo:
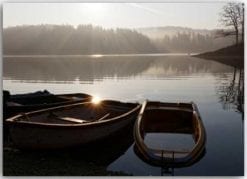
[[243,68],[244,44],[232,45],[216,51],[201,53],[194,55],[194,57],[214,60],[226,65]]

